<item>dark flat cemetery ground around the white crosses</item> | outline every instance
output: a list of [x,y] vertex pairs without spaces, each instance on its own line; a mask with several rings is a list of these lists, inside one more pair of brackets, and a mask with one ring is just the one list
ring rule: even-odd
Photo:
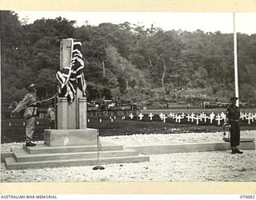
[[[242,110],[242,112],[254,112],[254,110]],[[138,116],[135,116],[133,120],[128,118],[122,119],[122,116],[117,116],[113,118],[111,122],[110,117],[106,116],[94,116],[88,117],[90,122],[87,123],[89,128],[95,128],[100,130],[101,136],[110,135],[130,135],[130,134],[186,134],[186,133],[202,133],[202,132],[217,132],[222,131],[222,125],[218,125],[217,122],[212,124],[207,122],[199,122],[198,125],[192,122],[187,122],[183,119],[182,122],[175,122],[174,119],[166,119],[166,122],[162,122],[158,114],[200,114],[204,112],[205,114],[210,114],[214,112],[215,114],[220,114],[225,112],[225,109],[209,109],[209,110],[139,110],[138,113],[145,115],[145,118],[139,120]],[[148,114],[154,114],[154,118],[150,121]],[[102,122],[99,122],[99,118]],[[255,130],[256,120],[250,123],[250,126],[246,121],[242,121],[241,130]],[[46,119],[37,119],[35,126],[35,140],[43,140],[43,131],[48,128]],[[4,142],[21,142],[24,140],[25,134],[25,120],[22,118],[11,118],[2,119],[2,143]]]

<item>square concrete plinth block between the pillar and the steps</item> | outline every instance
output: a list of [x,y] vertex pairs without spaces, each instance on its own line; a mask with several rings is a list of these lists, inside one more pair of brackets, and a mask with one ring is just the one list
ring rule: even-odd
[[97,129],[53,130],[46,129],[44,141],[48,146],[96,145]]

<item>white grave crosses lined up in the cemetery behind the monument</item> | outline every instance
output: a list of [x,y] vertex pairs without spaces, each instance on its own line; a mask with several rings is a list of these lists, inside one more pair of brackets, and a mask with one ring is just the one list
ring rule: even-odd
[[[241,113],[241,119],[244,120],[248,120],[248,124],[250,124],[250,122],[254,122],[254,120],[256,120],[256,113]],[[128,115],[128,117],[130,119],[134,119],[134,114],[130,113]],[[140,113],[138,114],[138,118],[140,121],[142,121],[144,117],[144,114]],[[150,118],[150,121],[153,120],[153,117],[154,117],[154,114],[150,113],[148,115],[148,117]],[[166,119],[167,118],[170,118],[170,119],[175,119],[175,122],[182,122],[182,119],[186,119],[187,122],[196,122],[196,124],[198,125],[199,122],[207,122],[207,119],[210,120],[210,123],[213,123],[214,120],[218,122],[218,125],[221,125],[223,122],[226,121],[226,114],[224,114],[223,112],[221,114],[214,114],[213,112],[207,116],[205,113],[201,113],[201,114],[194,114],[194,113],[191,113],[191,114],[174,114],[174,113],[170,113],[170,114],[159,114],[159,118],[162,120],[162,122],[166,122]],[[110,121],[113,122],[114,120],[116,120],[117,118],[114,116],[114,117],[110,117]],[[122,120],[126,119],[126,116],[123,116],[122,117]],[[88,118],[88,121],[87,122],[90,122],[90,119]],[[100,118],[99,119],[99,122],[102,122],[102,119]]]

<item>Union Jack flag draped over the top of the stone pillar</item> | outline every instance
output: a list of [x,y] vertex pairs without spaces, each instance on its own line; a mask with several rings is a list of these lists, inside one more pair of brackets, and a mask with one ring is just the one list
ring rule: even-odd
[[84,62],[82,60],[82,43],[71,41],[70,64],[56,74],[60,83],[60,97],[66,97],[69,102],[73,102],[77,88],[86,96],[86,80],[83,74]]

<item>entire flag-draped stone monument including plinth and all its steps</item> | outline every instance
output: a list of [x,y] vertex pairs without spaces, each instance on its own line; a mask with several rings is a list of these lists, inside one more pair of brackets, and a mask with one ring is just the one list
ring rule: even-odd
[[[57,129],[44,131],[44,144],[11,148],[10,154],[3,155],[7,170],[150,160],[138,150],[126,150],[122,145],[112,143],[101,144],[99,150],[98,130],[87,128],[81,47],[81,42],[73,38],[63,39],[60,43],[60,70],[56,74],[60,82]],[[104,167],[95,166],[93,169],[102,170]]]

